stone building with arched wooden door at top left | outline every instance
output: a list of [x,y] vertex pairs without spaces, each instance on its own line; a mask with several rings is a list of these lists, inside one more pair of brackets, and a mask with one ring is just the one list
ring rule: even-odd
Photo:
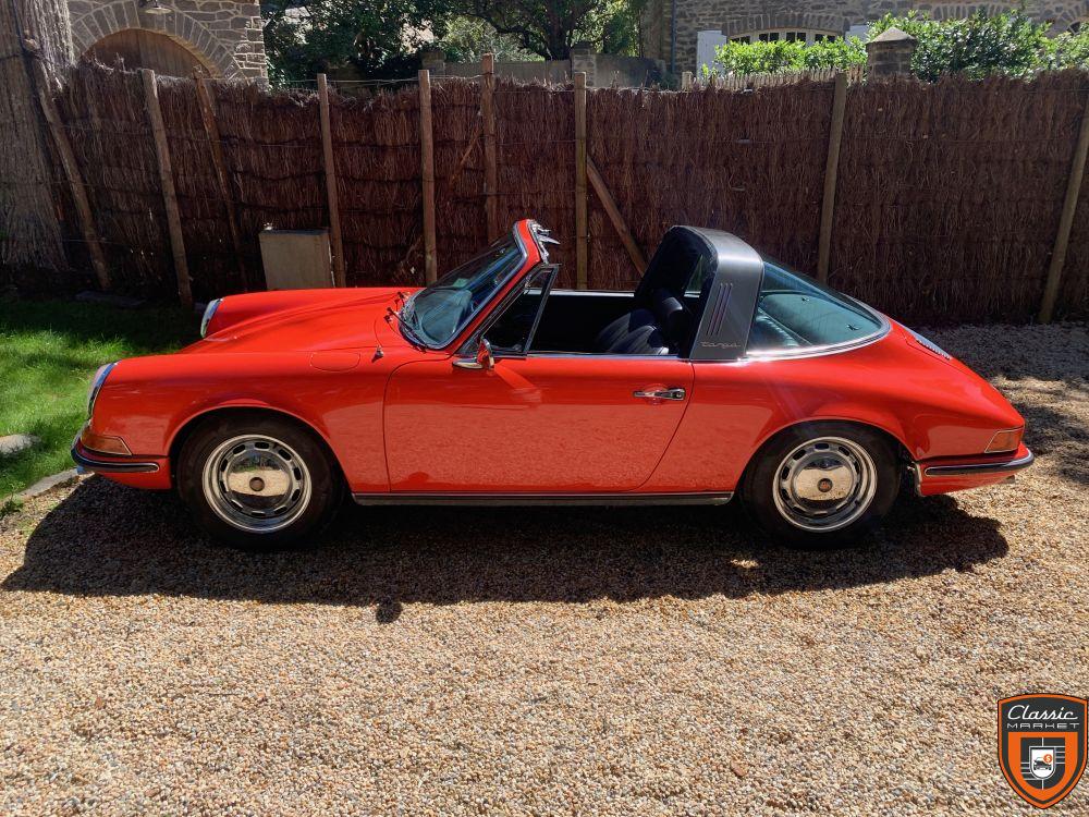
[[268,76],[258,3],[227,0],[69,0],[75,57],[160,74]]

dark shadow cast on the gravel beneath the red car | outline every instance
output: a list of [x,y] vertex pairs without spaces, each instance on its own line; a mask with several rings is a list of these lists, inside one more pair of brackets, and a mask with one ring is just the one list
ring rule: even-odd
[[998,523],[905,491],[866,547],[768,544],[739,508],[346,508],[314,546],[252,554],[209,542],[169,493],[82,484],[30,533],[4,590],[377,606],[627,601],[856,587],[971,571],[1007,552]]

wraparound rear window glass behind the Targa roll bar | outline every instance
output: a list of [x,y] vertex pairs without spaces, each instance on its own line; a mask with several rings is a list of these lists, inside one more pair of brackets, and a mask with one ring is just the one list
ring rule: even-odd
[[839,345],[877,334],[881,320],[811,278],[764,261],[748,352],[791,352]]

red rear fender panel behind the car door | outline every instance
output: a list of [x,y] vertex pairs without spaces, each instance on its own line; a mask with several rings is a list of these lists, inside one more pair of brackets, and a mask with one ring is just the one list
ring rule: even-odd
[[760,446],[806,420],[874,426],[914,460],[981,454],[995,430],[1025,424],[990,383],[897,325],[840,354],[695,369],[693,405],[647,490],[732,490]]

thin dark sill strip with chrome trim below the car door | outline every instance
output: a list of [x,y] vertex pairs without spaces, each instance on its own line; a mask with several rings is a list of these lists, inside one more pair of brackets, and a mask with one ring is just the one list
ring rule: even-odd
[[720,493],[353,493],[360,505],[723,505]]

